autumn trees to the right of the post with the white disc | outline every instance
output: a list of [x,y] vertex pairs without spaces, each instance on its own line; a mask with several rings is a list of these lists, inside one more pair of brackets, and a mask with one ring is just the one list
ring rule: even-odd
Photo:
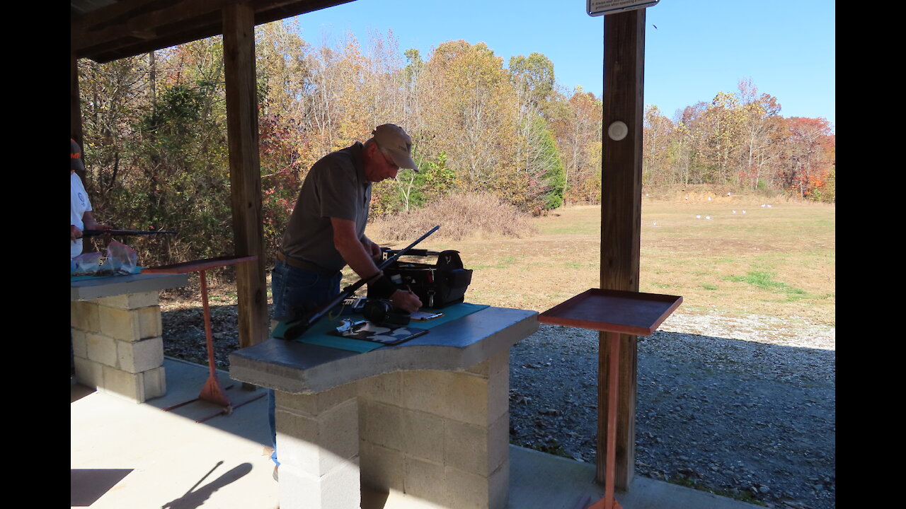
[[679,111],[645,110],[643,183],[723,184],[835,201],[835,135],[825,119],[784,118],[776,97],[741,80],[736,93]]

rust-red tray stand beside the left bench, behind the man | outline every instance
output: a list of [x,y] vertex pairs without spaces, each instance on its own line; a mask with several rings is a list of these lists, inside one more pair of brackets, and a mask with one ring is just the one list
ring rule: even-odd
[[[208,418],[217,417],[221,414],[230,414],[233,412],[233,408],[241,407],[246,403],[254,401],[263,397],[265,394],[258,394],[250,399],[246,399],[237,405],[234,405],[232,401],[226,396],[223,386],[220,384],[220,380],[217,379],[217,370],[214,363],[214,339],[211,333],[211,312],[210,308],[207,305],[207,277],[205,276],[205,271],[208,269],[213,269],[217,267],[226,267],[227,265],[242,264],[245,262],[252,262],[257,260],[258,257],[255,255],[251,256],[217,256],[215,258],[205,258],[202,260],[194,260],[191,262],[181,262],[178,264],[169,264],[169,265],[160,265],[157,267],[147,267],[141,269],[141,274],[186,274],[186,273],[198,273],[198,277],[201,284],[201,304],[204,307],[205,311],[205,339],[207,341],[207,367],[208,367],[208,376],[207,382],[205,382],[204,387],[201,388],[201,392],[198,394],[198,398],[189,399],[188,401],[183,401],[177,405],[172,405],[168,408],[163,408],[164,411],[171,410],[173,408],[182,407],[183,405],[188,405],[193,401],[198,401],[201,399],[203,401],[208,401],[223,407],[223,409],[218,410],[216,414],[210,415],[207,418],[198,419],[198,422],[207,420]],[[233,386],[230,385],[226,389],[230,389]]]

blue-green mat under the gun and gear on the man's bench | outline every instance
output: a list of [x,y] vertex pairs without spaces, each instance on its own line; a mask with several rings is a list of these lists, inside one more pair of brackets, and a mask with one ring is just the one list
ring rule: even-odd
[[[418,332],[422,330],[430,330],[439,325],[443,325],[447,322],[452,322],[458,320],[468,314],[473,312],[481,311],[488,307],[488,304],[471,304],[471,303],[458,303],[452,306],[448,306],[439,310],[439,312],[444,313],[443,316],[434,318],[427,322],[410,322],[410,325],[407,325],[406,328],[410,329],[413,332]],[[335,348],[339,350],[346,351],[357,351],[359,353],[364,353],[366,351],[377,350],[384,345],[380,341],[367,341],[367,340],[357,340],[353,338],[342,338],[340,336],[333,336],[328,334],[329,331],[333,331],[340,324],[342,319],[352,318],[352,320],[363,320],[361,313],[352,313],[352,314],[326,314],[324,317],[315,322],[311,329],[305,331],[305,333],[296,338],[293,341],[300,341],[305,344],[326,346],[329,348]],[[271,337],[277,339],[284,339],[284,332],[286,331],[286,323],[279,322],[274,328],[274,332],[271,333]]]

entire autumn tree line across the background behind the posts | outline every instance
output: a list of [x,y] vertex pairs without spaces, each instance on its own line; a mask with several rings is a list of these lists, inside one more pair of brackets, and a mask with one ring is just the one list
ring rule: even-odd
[[[564,91],[545,55],[509,62],[485,43],[400,51],[390,32],[314,46],[297,20],[255,28],[265,242],[275,247],[308,168],[391,122],[413,139],[419,173],[376,184],[372,214],[487,192],[530,214],[597,203],[602,101]],[[86,187],[101,217],[178,229],[151,256],[231,252],[223,41],[211,37],[99,64],[79,62]],[[751,83],[668,120],[646,110],[643,183],[770,187],[834,200],[826,120],[784,119]],[[224,235],[211,235],[222,232]]]

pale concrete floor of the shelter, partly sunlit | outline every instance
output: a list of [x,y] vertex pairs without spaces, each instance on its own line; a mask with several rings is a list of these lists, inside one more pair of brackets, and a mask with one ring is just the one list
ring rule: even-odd
[[[266,398],[198,423],[217,413],[195,401],[208,370],[164,360],[167,395],[136,404],[115,395],[72,386],[70,466],[72,507],[275,509],[277,483],[270,460]],[[218,371],[234,405],[263,392],[245,390]],[[594,466],[510,446],[507,509],[582,509],[603,496]],[[617,493],[623,509],[757,509],[757,505],[636,476],[629,493]],[[411,496],[365,490],[362,509],[439,509]]]

